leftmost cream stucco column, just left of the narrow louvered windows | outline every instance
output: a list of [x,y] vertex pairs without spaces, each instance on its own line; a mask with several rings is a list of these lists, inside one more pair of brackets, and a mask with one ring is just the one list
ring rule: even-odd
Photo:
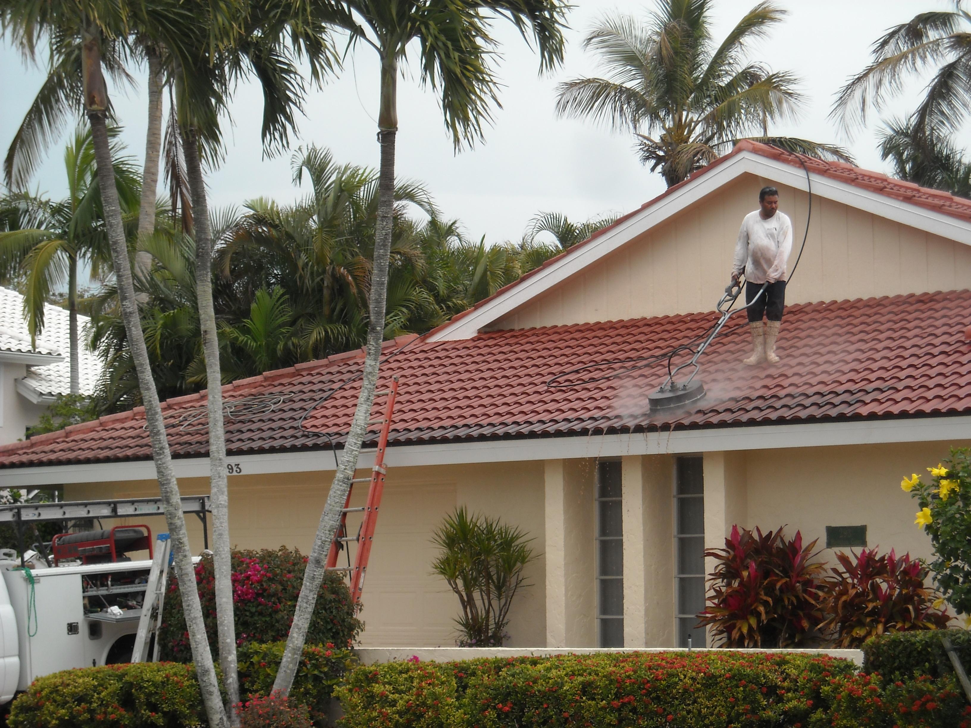
[[596,646],[596,469],[589,460],[547,460],[547,646]]

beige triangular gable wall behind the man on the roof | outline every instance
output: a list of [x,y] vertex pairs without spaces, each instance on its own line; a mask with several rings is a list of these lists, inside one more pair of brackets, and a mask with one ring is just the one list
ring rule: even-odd
[[[690,210],[656,226],[489,329],[528,328],[715,307],[731,271],[742,217],[772,183],[743,175]],[[789,268],[806,229],[808,195],[779,185],[792,219]],[[813,216],[788,303],[971,287],[971,246],[813,196]]]

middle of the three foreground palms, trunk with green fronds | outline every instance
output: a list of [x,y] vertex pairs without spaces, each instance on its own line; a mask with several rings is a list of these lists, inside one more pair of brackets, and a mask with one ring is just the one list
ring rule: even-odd
[[[218,157],[218,118],[235,84],[256,79],[263,91],[263,143],[273,150],[285,148],[295,115],[301,110],[304,84],[294,55],[308,59],[320,80],[333,67],[336,56],[323,22],[328,4],[289,0],[240,2],[225,8],[203,6],[191,28],[181,37],[166,37],[173,54],[174,86],[185,172],[192,201],[196,251],[196,294],[199,328],[206,363],[209,420],[209,461],[213,513],[213,560],[216,572],[219,662],[226,685],[227,709],[239,702],[236,632],[233,619],[230,563],[226,447],[222,419],[222,375],[218,326],[213,303],[213,240],[202,159]],[[208,11],[208,16],[206,15]],[[187,31],[187,32],[186,32]]]

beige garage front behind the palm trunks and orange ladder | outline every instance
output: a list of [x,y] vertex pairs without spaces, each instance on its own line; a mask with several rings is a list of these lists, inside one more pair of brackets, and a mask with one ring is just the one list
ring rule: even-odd
[[[311,473],[230,476],[231,543],[241,548],[295,546],[306,553],[329,484],[329,475]],[[208,479],[180,480],[180,488],[185,495],[208,493]],[[69,500],[148,497],[158,492],[151,480],[67,485],[65,491]],[[356,486],[352,505],[363,505],[365,494],[366,486]],[[458,599],[443,579],[430,573],[435,548],[429,539],[446,513],[465,505],[519,526],[534,540],[538,558],[526,570],[531,585],[520,592],[510,611],[509,645],[545,645],[544,498],[542,463],[391,467],[364,586],[361,644],[454,645],[452,619],[458,615]],[[164,531],[161,518],[144,520],[153,531]],[[193,552],[198,553],[203,547],[201,525],[194,516],[186,522]],[[349,519],[351,533],[358,522]]]

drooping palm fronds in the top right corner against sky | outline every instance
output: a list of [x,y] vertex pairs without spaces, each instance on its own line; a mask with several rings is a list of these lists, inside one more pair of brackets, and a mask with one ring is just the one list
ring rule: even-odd
[[971,97],[971,14],[962,6],[957,0],[953,11],[920,13],[888,29],[873,44],[873,62],[840,89],[830,116],[851,128],[863,124],[908,78],[933,68],[909,126],[932,142],[959,129]]

